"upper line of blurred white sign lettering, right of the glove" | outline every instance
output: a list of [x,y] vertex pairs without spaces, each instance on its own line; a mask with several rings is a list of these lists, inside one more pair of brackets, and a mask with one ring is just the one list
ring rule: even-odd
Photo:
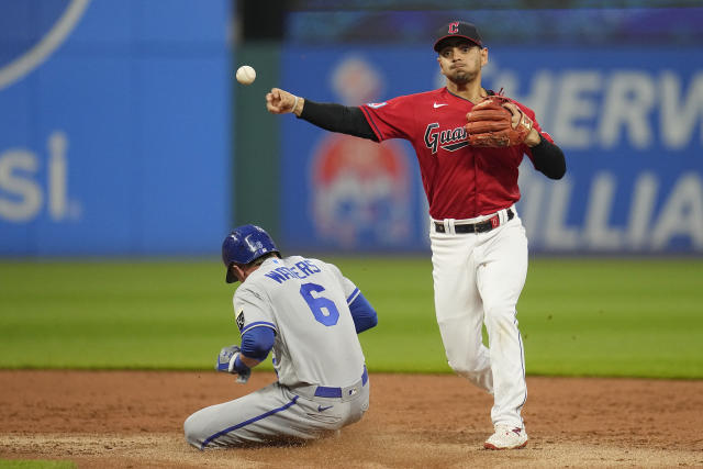
[[518,74],[494,63],[487,77],[488,85],[533,109],[565,150],[655,144],[680,149],[696,130],[703,143],[703,71],[684,79],[667,69],[540,69],[521,89]]

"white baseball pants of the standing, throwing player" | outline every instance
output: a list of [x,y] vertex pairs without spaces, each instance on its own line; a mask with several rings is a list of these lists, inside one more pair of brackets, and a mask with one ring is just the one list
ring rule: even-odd
[[[435,312],[449,366],[493,394],[494,425],[523,427],[527,387],[515,305],[527,275],[527,237],[515,208],[511,210],[512,220],[502,210],[501,224],[486,233],[460,234],[454,226],[492,215],[432,221],[429,239]],[[436,232],[435,222],[444,224],[445,233]]]

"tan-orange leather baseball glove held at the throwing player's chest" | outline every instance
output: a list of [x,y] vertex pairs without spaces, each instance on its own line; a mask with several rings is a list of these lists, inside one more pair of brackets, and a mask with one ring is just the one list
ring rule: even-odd
[[522,144],[533,122],[520,108],[520,121],[513,127],[513,112],[503,104],[511,102],[503,96],[489,96],[466,114],[465,125],[471,146],[503,147]]

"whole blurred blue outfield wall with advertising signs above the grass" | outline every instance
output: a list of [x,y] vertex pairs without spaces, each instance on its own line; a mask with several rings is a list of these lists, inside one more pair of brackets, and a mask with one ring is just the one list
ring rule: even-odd
[[216,256],[243,223],[284,249],[428,252],[410,145],[270,115],[265,93],[438,88],[450,20],[567,155],[558,182],[521,168],[533,254],[703,253],[699,2],[0,0],[0,256]]

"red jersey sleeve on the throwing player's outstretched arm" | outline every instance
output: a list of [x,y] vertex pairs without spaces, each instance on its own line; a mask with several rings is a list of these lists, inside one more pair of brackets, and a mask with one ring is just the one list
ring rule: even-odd
[[416,134],[415,104],[411,96],[401,96],[384,102],[362,104],[359,109],[379,142],[389,138],[411,139]]

